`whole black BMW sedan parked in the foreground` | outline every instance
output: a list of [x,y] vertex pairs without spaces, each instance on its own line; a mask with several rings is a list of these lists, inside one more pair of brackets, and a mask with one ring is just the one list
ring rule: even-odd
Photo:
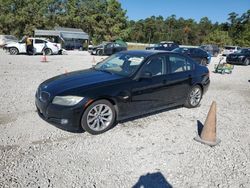
[[100,134],[130,117],[179,105],[197,107],[209,83],[207,67],[189,57],[124,51],[93,68],[46,80],[35,103],[48,122]]

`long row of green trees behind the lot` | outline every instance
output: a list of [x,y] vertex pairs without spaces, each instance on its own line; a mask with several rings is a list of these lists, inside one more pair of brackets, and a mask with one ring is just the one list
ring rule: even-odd
[[207,17],[196,22],[175,15],[129,21],[118,0],[0,0],[0,5],[0,33],[18,37],[61,26],[83,29],[94,43],[121,38],[143,43],[250,46],[250,10],[242,15],[232,12],[228,22],[213,24]]

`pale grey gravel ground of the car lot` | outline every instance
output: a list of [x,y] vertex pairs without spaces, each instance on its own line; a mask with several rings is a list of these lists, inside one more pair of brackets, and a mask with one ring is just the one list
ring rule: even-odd
[[[40,119],[34,95],[42,81],[91,67],[93,57],[41,57],[0,50],[0,187],[250,187],[250,66],[211,72],[199,108],[166,110],[92,136]],[[210,70],[218,58],[212,61]],[[193,138],[213,100],[222,142],[211,148]]]

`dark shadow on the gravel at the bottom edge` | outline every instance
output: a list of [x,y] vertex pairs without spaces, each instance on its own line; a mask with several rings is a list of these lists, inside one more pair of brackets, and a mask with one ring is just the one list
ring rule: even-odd
[[132,188],[172,188],[161,172],[147,173],[139,178]]

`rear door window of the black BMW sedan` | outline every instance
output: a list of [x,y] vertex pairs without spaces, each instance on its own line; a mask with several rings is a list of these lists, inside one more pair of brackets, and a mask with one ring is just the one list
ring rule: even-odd
[[193,70],[193,64],[188,59],[178,55],[170,55],[168,57],[170,64],[170,73],[185,72]]

